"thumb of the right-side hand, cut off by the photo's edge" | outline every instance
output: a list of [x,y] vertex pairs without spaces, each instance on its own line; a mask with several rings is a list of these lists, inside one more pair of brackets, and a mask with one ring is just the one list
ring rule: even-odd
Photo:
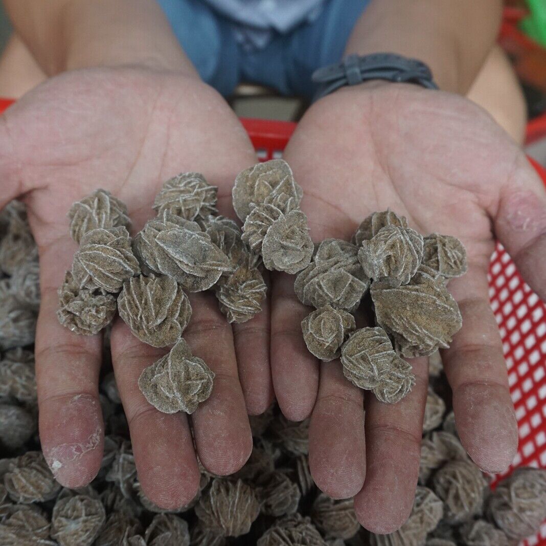
[[494,225],[523,278],[546,301],[546,191],[523,154],[501,192]]

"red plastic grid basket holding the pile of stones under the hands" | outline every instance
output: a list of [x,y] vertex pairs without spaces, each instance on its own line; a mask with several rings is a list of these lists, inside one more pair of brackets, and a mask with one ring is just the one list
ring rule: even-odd
[[[13,101],[0,99],[0,114]],[[261,161],[281,157],[296,124],[242,120]],[[546,170],[533,160],[546,185]],[[489,269],[491,308],[500,330],[508,380],[519,426],[519,448],[512,466],[546,467],[546,304],[523,281],[500,243]],[[546,546],[546,522],[526,546]]]

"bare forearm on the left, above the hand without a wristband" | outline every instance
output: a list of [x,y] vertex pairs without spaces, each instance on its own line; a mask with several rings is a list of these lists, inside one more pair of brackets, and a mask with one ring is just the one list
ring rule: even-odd
[[140,64],[196,75],[155,0],[4,0],[48,75]]

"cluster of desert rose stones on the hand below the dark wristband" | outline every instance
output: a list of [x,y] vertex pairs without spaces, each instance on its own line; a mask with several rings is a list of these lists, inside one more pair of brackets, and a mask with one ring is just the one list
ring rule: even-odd
[[[458,239],[423,238],[391,210],[370,214],[351,242],[323,240],[296,277],[299,300],[316,308],[301,322],[307,348],[323,361],[341,356],[354,385],[382,402],[400,401],[415,380],[401,357],[445,349],[461,327],[446,284],[466,268]],[[357,330],[352,313],[368,289],[376,326]]]

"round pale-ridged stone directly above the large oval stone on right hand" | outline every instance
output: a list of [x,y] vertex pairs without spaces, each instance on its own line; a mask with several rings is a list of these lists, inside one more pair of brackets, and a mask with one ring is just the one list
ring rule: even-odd
[[390,286],[407,284],[423,259],[423,237],[408,227],[385,226],[358,251],[367,277]]

